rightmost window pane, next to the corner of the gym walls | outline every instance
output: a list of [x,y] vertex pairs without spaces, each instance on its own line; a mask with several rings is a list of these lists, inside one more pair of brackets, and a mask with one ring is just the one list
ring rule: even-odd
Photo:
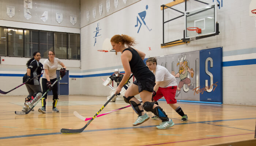
[[80,59],[80,35],[68,34],[68,59]]

